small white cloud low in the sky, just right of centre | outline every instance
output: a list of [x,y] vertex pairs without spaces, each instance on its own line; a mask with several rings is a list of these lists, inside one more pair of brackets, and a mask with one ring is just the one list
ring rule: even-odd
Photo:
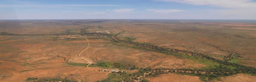
[[154,12],[154,13],[168,14],[168,13],[182,12],[183,10],[154,10],[154,9],[148,9],[146,11],[151,11],[151,12]]

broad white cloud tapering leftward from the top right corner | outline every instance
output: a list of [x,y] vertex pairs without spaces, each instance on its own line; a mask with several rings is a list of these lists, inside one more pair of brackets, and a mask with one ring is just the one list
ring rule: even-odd
[[157,0],[164,2],[180,2],[193,5],[213,5],[225,8],[256,8],[252,0]]

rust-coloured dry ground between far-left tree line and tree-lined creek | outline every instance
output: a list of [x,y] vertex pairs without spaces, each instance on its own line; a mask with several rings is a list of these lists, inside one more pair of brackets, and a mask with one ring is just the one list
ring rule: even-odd
[[[26,38],[26,39],[23,39]],[[108,74],[97,74],[91,68],[66,65],[67,62],[87,63],[78,57],[78,54],[87,47],[87,42],[81,40],[53,41],[51,36],[45,37],[11,37],[1,45],[6,53],[1,52],[0,69],[2,81],[23,81],[29,77],[68,77],[73,80],[96,81],[106,78]],[[201,68],[201,63],[188,59],[167,56],[152,51],[137,50],[122,45],[110,44],[105,40],[90,40],[90,48],[81,56],[93,62],[124,62],[140,68]],[[17,53],[17,54],[16,54]],[[66,58],[66,61],[64,58]],[[13,60],[13,61],[8,61]],[[72,71],[66,71],[66,70]],[[83,71],[88,69],[89,71]],[[99,68],[95,69],[98,71]],[[95,74],[83,75],[84,74]],[[78,75],[73,77],[72,75]],[[92,79],[95,77],[97,79]],[[99,76],[98,76],[99,75]],[[23,77],[19,77],[23,76]]]

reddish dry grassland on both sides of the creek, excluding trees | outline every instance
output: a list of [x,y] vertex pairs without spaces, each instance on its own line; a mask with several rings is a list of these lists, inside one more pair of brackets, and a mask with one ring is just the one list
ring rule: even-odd
[[[79,25],[74,25],[74,23]],[[231,51],[242,56],[238,59],[241,64],[256,67],[256,31],[255,28],[251,27],[254,26],[252,24],[190,22],[185,20],[181,22],[138,22],[135,20],[111,20],[107,22],[45,20],[33,22],[24,20],[24,22],[0,22],[0,25],[2,25],[0,26],[1,32],[14,34],[57,34],[67,30],[80,32],[80,29],[83,28],[88,28],[87,31],[89,32],[107,33],[106,31],[108,31],[111,34],[120,33],[117,37],[123,40],[130,37],[134,38],[136,42],[195,51],[220,60],[229,54],[228,51]],[[67,35],[60,37],[67,37]],[[77,37],[80,39],[75,39]],[[23,81],[28,77],[40,76],[69,77],[70,79],[86,81],[106,78],[108,74],[97,72],[101,68],[66,65],[66,62],[87,63],[78,57],[78,54],[86,47],[87,41],[80,35],[72,35],[70,39],[63,40],[56,40],[54,36],[0,35],[0,80]],[[220,51],[217,48],[225,51]],[[90,48],[81,56],[93,62],[122,62],[140,68],[149,66],[151,68],[202,68],[206,66],[193,60],[139,50],[98,39],[90,40]],[[238,78],[239,76],[235,77]],[[242,76],[246,79],[253,78],[249,75]],[[184,80],[181,77],[188,79]],[[225,81],[229,78],[231,77],[222,79]],[[200,81],[198,77],[176,74],[164,74],[160,77],[148,78],[148,80]]]

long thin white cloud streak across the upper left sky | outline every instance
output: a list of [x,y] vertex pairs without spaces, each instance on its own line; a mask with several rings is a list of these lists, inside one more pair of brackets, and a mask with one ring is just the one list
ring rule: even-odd
[[122,5],[0,5],[0,7],[117,7]]

